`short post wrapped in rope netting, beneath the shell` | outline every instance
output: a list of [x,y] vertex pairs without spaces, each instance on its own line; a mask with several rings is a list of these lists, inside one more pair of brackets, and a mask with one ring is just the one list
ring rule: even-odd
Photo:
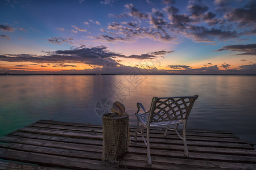
[[130,144],[129,115],[105,114],[103,120],[103,161],[117,162]]

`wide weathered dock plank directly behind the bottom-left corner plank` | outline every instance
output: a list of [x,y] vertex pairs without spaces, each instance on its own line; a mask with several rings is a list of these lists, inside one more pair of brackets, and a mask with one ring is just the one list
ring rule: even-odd
[[99,160],[69,158],[47,154],[17,151],[0,148],[0,158],[24,163],[33,163],[49,167],[63,167],[71,169],[117,169],[118,163],[102,162]]

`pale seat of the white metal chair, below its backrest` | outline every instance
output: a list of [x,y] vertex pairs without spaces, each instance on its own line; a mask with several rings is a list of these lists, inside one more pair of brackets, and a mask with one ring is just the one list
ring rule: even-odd
[[[147,124],[148,116],[149,116],[149,113],[138,113],[138,119],[144,125]],[[166,126],[166,125],[182,124],[183,121],[184,119],[157,121],[157,122],[151,122],[150,126]]]

